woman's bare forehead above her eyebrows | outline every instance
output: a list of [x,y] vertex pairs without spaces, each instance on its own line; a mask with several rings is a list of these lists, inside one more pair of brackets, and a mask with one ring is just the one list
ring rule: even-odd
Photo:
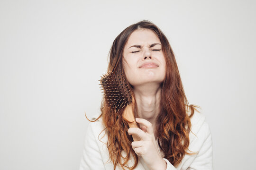
[[160,43],[158,36],[150,29],[137,29],[135,30],[126,43],[126,46],[131,45],[146,45],[151,43]]

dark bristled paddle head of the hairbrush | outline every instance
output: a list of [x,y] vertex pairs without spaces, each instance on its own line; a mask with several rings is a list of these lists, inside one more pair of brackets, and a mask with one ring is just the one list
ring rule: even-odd
[[132,102],[128,82],[120,69],[101,76],[99,81],[101,82],[102,93],[104,93],[103,96],[111,108],[110,110],[119,111]]

